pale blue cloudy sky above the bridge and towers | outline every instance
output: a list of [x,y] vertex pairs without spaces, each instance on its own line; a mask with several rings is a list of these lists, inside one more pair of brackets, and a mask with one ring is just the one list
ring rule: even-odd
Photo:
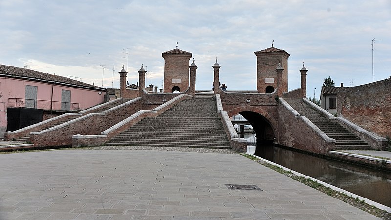
[[162,88],[161,54],[178,42],[193,53],[197,90],[211,89],[216,57],[228,90],[256,90],[254,51],[274,40],[290,54],[289,90],[304,62],[307,96],[319,98],[328,76],[372,82],[373,39],[378,81],[391,76],[390,0],[0,0],[1,64],[107,88],[119,88],[122,65],[137,83],[141,64]]

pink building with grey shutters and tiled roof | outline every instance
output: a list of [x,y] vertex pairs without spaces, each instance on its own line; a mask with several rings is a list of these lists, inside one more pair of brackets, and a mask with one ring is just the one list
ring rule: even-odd
[[23,121],[23,125],[11,123],[11,127],[21,128],[103,103],[105,94],[105,88],[63,76],[0,65],[0,138],[5,131],[11,131],[7,129],[11,121],[7,115],[12,115],[14,121]]

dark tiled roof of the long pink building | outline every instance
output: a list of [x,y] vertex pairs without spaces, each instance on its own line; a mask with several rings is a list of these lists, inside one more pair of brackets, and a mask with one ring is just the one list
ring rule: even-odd
[[87,87],[92,89],[105,90],[105,88],[83,83],[64,76],[57,76],[49,73],[34,71],[31,69],[19,68],[15,66],[6,66],[2,64],[0,64],[0,75],[1,74],[8,75],[10,77],[23,77],[23,78],[30,78],[35,80],[48,81],[51,83],[55,82],[59,84],[68,84],[70,86],[75,86],[75,87],[84,87],[84,88]]

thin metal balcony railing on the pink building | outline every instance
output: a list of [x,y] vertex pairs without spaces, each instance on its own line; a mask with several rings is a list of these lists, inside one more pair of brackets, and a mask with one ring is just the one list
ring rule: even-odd
[[43,110],[63,110],[63,111],[78,111],[79,103],[70,102],[57,102],[37,99],[20,99],[20,98],[9,98],[8,108],[33,108]]

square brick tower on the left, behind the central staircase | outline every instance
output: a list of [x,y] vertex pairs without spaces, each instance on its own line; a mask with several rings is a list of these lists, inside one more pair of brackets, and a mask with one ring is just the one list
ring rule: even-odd
[[184,92],[189,88],[189,60],[192,53],[176,49],[162,53],[164,59],[164,91]]

